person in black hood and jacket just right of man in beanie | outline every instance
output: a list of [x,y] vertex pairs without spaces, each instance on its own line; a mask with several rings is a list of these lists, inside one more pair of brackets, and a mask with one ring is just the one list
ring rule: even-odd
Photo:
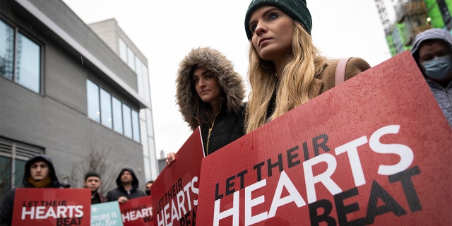
[[138,178],[130,168],[123,168],[116,179],[117,188],[108,191],[107,201],[118,201],[125,203],[131,198],[145,196],[144,191],[138,189]]

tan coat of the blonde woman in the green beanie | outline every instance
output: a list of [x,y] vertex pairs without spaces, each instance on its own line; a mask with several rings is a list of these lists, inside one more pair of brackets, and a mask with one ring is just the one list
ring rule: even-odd
[[[325,69],[323,69],[319,76],[314,78],[312,87],[308,93],[309,100],[334,87],[335,72],[336,66],[338,66],[338,61],[339,59],[328,59]],[[345,68],[345,80],[350,79],[353,76],[366,71],[367,69],[370,69],[370,65],[367,61],[364,61],[364,59],[359,57],[353,57],[348,61],[347,67]]]

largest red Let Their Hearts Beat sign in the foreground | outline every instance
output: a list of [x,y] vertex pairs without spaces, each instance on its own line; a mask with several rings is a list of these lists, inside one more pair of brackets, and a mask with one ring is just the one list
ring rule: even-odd
[[197,224],[448,224],[451,146],[404,52],[205,157]]

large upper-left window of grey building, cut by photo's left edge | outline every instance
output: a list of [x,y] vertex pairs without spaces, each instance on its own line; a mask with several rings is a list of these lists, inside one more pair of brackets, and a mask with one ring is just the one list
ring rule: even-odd
[[[16,65],[14,65],[16,64]],[[0,75],[35,93],[41,90],[41,47],[0,20]]]

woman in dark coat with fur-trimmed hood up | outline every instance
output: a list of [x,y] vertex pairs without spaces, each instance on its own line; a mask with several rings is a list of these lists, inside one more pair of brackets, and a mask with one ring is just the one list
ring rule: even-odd
[[191,49],[176,83],[179,111],[192,131],[201,126],[206,155],[244,135],[243,79],[218,50]]

